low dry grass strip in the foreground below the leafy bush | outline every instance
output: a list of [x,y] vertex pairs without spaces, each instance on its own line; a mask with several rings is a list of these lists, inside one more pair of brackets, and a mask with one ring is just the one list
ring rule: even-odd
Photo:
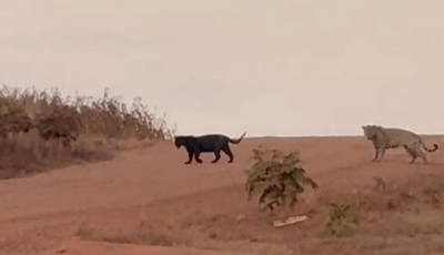
[[[94,227],[88,233],[79,231],[78,235],[111,243],[255,254],[444,253],[444,186],[440,181],[443,177],[444,173],[415,173],[397,183],[379,178],[374,186],[356,194],[326,192],[321,198],[297,206],[295,214],[315,207],[306,222],[284,228],[274,228],[271,225],[273,215],[252,207],[220,213],[221,208],[215,208],[214,204],[208,207],[199,204],[201,210],[188,218],[168,220],[159,215],[149,221],[140,218],[138,225],[114,230]],[[233,204],[240,204],[241,200],[243,197],[233,197]],[[359,206],[361,224],[350,236],[325,235],[330,203],[341,201]],[[170,210],[174,211],[174,205]]]

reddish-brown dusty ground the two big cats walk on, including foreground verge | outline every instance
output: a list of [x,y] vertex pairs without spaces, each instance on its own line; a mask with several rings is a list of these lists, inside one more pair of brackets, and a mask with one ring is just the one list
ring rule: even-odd
[[[444,139],[430,164],[407,164],[402,149],[372,163],[363,137],[248,139],[235,162],[184,165],[170,143],[111,162],[0,182],[0,254],[444,254]],[[300,151],[309,191],[295,214],[309,220],[273,228],[276,215],[248,203],[243,190],[259,144]],[[375,191],[373,176],[387,183]],[[330,203],[355,203],[361,225],[349,237],[323,235]],[[279,215],[278,215],[279,216]]]

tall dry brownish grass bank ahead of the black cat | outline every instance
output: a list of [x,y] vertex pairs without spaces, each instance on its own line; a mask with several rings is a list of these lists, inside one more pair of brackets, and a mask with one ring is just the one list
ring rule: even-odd
[[0,90],[0,178],[109,160],[115,150],[171,137],[140,99],[128,108],[108,91],[92,99],[63,98],[57,89]]

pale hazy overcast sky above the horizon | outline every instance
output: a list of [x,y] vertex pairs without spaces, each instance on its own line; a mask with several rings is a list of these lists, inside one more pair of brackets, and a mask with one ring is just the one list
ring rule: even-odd
[[0,0],[0,82],[142,96],[180,134],[444,132],[442,0]]

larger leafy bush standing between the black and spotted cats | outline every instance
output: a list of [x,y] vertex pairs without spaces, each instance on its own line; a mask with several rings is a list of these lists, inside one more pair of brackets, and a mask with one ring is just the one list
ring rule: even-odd
[[273,205],[293,207],[297,202],[297,194],[305,191],[305,185],[313,188],[317,184],[305,176],[300,165],[297,153],[284,154],[280,150],[253,150],[255,163],[248,170],[245,190],[249,200],[260,196],[259,203],[265,203],[271,211]]

